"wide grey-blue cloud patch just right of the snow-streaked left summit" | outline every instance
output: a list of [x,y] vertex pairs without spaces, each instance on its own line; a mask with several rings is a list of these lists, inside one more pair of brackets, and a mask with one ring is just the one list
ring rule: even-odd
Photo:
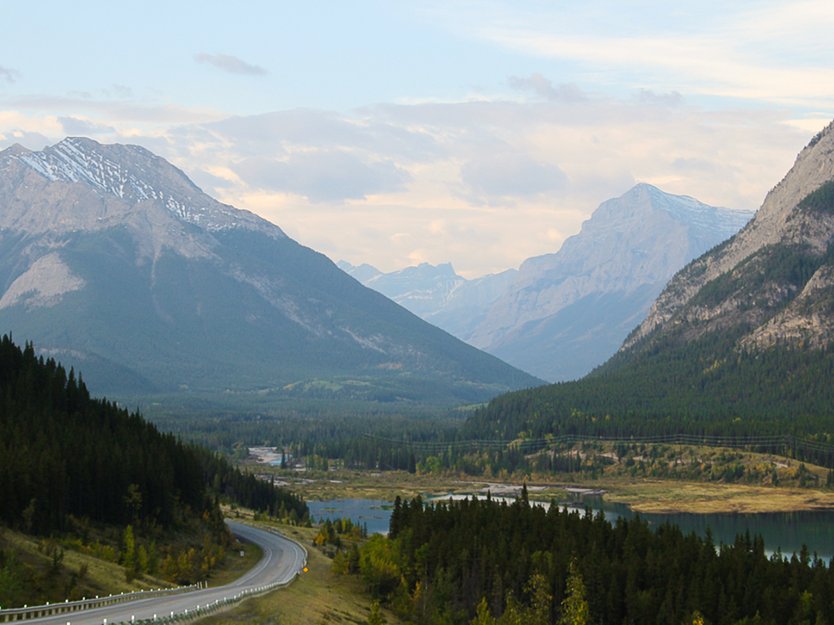
[[286,161],[251,157],[232,169],[250,187],[295,193],[312,203],[404,191],[410,180],[408,172],[389,160],[365,163],[354,154],[335,150],[294,153]]

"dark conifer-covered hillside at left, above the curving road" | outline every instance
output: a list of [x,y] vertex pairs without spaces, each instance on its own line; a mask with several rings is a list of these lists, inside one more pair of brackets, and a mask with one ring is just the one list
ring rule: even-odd
[[294,494],[91,398],[72,369],[8,336],[0,341],[0,458],[0,520],[36,534],[65,531],[70,515],[178,527],[203,511],[219,513],[215,495],[306,512]]

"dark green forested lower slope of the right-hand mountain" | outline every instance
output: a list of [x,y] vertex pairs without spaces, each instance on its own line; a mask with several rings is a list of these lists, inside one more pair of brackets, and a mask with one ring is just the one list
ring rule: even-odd
[[738,353],[736,338],[661,344],[605,374],[502,395],[473,414],[465,438],[793,433],[830,443],[831,350]]

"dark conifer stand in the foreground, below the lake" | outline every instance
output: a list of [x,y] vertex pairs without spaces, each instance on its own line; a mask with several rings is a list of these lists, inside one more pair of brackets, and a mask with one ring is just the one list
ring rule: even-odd
[[527,502],[396,502],[363,548],[372,592],[420,623],[834,622],[834,569],[806,550],[767,557],[761,537],[612,524]]

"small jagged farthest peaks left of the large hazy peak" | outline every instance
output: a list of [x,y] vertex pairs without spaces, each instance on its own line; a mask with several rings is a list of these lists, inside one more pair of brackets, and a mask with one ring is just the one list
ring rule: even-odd
[[359,267],[345,261],[336,264],[366,287],[463,341],[470,338],[517,273],[507,269],[467,280],[455,273],[451,263],[420,263],[391,273],[382,273],[367,263]]

